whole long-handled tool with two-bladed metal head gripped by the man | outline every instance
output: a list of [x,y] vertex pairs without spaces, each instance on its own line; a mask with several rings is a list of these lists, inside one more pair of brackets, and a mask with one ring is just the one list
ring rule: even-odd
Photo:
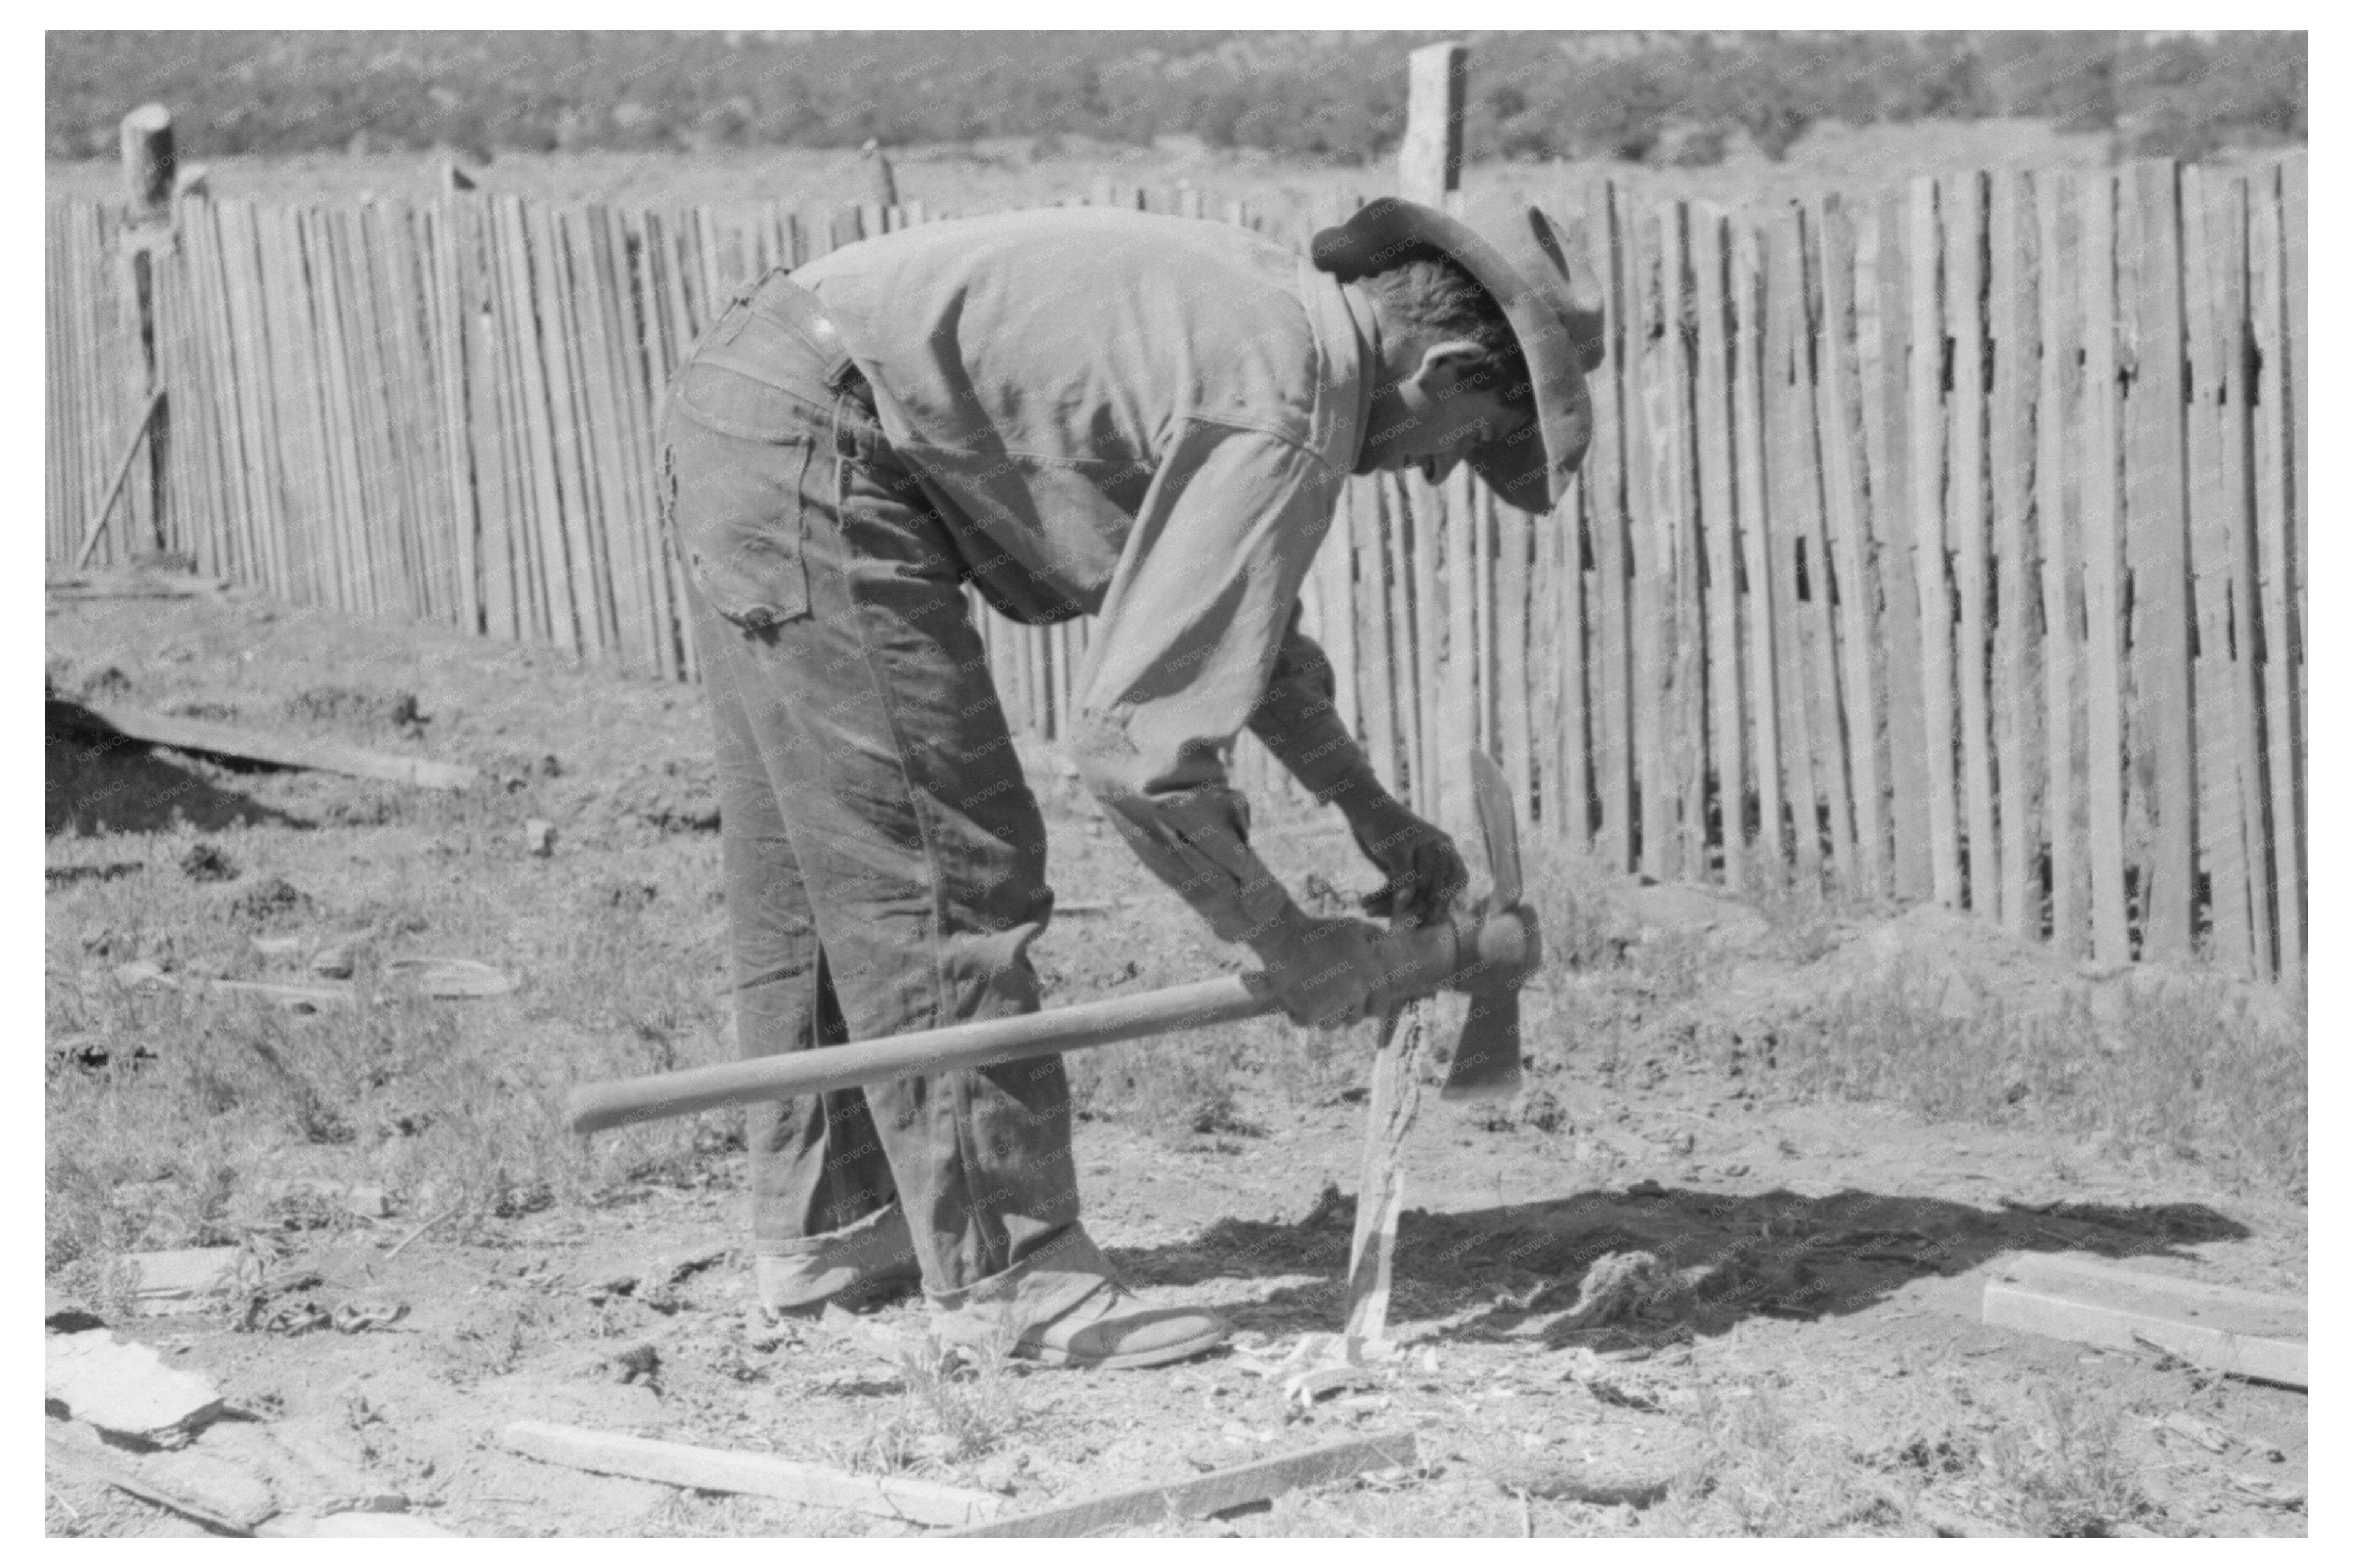
[[[1485,768],[1480,768],[1485,763]],[[1471,909],[1421,928],[1393,928],[1377,951],[1388,984],[1381,996],[1402,1003],[1433,991],[1473,998],[1464,1038],[1447,1069],[1445,1099],[1511,1095],[1520,1085],[1520,984],[1544,961],[1537,911],[1520,902],[1520,843],[1511,789],[1487,753],[1471,756],[1473,798],[1487,850],[1492,892]],[[1176,1029],[1207,1029],[1278,1012],[1275,984],[1264,970],[1200,979],[1139,996],[1113,996],[1073,1008],[991,1017],[946,1029],[894,1034],[880,1041],[748,1057],[675,1074],[584,1083],[565,1107],[574,1132],[602,1132],[664,1116],[692,1116],[729,1104],[824,1095],[854,1083],[885,1083],[991,1067],[1087,1045],[1141,1041]]]

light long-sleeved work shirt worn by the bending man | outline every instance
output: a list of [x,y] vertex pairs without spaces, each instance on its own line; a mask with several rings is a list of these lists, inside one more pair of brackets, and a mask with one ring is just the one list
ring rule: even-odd
[[1096,614],[1073,760],[1226,939],[1287,906],[1224,753],[1249,725],[1322,798],[1379,791],[1299,633],[1355,464],[1377,330],[1240,226],[1047,210],[925,224],[795,271],[981,593]]

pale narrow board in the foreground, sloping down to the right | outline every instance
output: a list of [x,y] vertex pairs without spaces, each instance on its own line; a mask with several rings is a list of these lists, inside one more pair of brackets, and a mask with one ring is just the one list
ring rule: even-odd
[[1000,1497],[962,1486],[939,1486],[936,1481],[908,1481],[901,1476],[852,1476],[842,1469],[779,1460],[767,1453],[661,1443],[619,1431],[558,1427],[555,1422],[511,1422],[501,1436],[515,1453],[544,1460],[546,1464],[588,1469],[600,1476],[692,1486],[701,1493],[779,1497],[784,1502],[856,1509],[859,1514],[908,1519],[913,1523],[969,1526],[995,1519],[1005,1507]]

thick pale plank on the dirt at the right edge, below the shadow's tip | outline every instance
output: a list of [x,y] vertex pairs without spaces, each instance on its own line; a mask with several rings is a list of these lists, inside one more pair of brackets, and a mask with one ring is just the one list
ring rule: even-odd
[[2219,1373],[2311,1387],[2306,1311],[2294,1297],[2028,1253],[1986,1281],[1984,1321],[2082,1344],[2160,1349]]

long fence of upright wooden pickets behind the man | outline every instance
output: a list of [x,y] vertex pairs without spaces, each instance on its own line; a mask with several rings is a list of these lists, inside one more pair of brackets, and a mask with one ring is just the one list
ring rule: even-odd
[[[1478,744],[1612,866],[2301,977],[2304,158],[1567,198],[1609,320],[1572,497],[1353,480],[1301,596],[1381,777],[1438,810]],[[188,200],[146,271],[169,436],[104,549],[692,678],[661,388],[739,283],[908,221]],[[125,250],[49,210],[52,560],[146,400]],[[1087,622],[974,605],[1054,742]]]

